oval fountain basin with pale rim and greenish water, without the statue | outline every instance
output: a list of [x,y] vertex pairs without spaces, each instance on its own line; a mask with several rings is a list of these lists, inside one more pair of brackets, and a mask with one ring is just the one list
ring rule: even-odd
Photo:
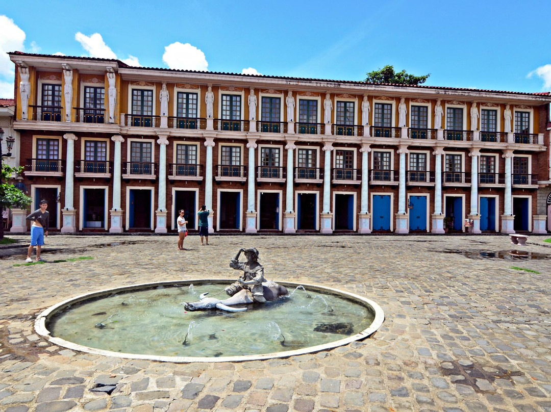
[[225,299],[231,279],[197,279],[93,292],[42,312],[36,332],[52,344],[106,356],[170,362],[270,359],[365,339],[382,324],[377,303],[317,285],[278,282],[289,295],[244,312],[187,311],[209,292]]

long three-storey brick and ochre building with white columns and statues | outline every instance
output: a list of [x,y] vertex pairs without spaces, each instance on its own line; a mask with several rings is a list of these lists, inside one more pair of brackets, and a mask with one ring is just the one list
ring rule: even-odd
[[202,204],[211,232],[551,229],[549,93],[9,55],[31,209],[62,232],[193,230]]

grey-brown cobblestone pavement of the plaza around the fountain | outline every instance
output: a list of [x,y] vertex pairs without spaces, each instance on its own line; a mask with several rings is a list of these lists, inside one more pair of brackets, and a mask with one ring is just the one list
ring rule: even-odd
[[[14,266],[24,248],[0,260],[0,410],[551,411],[551,261],[532,259],[551,256],[547,237],[211,236],[201,246],[190,236],[179,252],[176,236],[50,236],[44,264]],[[87,292],[233,278],[243,246],[260,250],[268,278],[376,301],[383,326],[315,354],[192,364],[77,353],[33,329],[42,310]],[[480,254],[498,251],[506,258]],[[53,262],[80,256],[94,259]],[[115,389],[90,391],[99,384]]]

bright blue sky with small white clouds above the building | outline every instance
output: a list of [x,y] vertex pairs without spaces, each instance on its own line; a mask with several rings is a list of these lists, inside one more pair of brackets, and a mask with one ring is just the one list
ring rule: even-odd
[[550,16],[548,0],[0,0],[0,98],[10,51],[352,81],[391,64],[431,86],[551,91]]

